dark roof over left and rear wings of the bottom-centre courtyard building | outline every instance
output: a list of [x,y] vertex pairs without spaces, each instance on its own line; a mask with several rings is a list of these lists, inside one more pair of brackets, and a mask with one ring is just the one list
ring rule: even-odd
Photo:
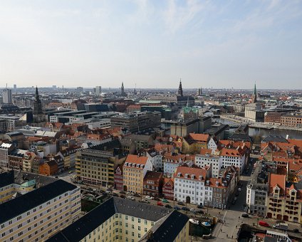
[[116,213],[149,221],[158,221],[170,214],[170,211],[169,209],[160,206],[142,204],[137,201],[112,197],[91,210],[88,214],[85,214],[85,216],[78,219],[70,226],[56,233],[48,239],[48,242],[80,241]]

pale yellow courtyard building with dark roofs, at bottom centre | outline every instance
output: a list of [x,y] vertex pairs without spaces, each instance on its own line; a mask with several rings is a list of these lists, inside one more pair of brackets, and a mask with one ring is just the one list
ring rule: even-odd
[[113,197],[48,241],[147,242],[150,239],[189,241],[189,218],[178,211]]

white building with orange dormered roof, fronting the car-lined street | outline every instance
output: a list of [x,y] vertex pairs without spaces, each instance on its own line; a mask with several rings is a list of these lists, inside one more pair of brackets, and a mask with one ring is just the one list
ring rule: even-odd
[[207,169],[178,167],[174,174],[175,200],[190,204],[210,204],[212,187],[206,181],[208,175]]

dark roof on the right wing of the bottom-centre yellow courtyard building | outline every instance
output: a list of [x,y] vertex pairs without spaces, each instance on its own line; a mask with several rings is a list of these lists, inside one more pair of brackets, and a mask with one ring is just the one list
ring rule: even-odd
[[152,231],[151,238],[147,238],[147,233],[142,237],[140,241],[145,242],[172,242],[179,232],[184,228],[189,218],[179,213],[179,211],[172,211],[172,213],[167,216],[167,218],[162,219],[159,223],[155,224],[150,231]]

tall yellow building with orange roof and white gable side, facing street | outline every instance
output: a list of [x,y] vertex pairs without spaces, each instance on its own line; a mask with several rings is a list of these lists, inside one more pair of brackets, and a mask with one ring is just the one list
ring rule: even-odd
[[136,194],[143,194],[144,177],[153,166],[148,157],[128,154],[123,165],[124,190]]

